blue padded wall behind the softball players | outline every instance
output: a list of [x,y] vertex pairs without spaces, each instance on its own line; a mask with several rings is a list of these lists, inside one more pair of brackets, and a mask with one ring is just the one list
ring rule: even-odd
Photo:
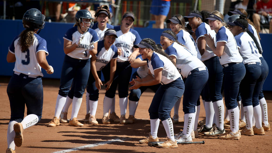
[[[42,72],[44,78],[60,78],[61,68],[64,59],[63,51],[63,36],[67,29],[71,28],[74,23],[45,23],[44,29],[41,30],[39,35],[47,41],[47,49],[49,55],[47,61],[54,68],[54,74],[47,74],[44,69]],[[1,53],[0,53],[0,65],[2,76],[11,76],[13,74],[14,63],[8,63],[6,60],[8,47],[11,44],[13,38],[19,35],[24,30],[22,20],[0,20],[0,28],[2,29],[2,36],[0,41]],[[152,38],[156,44],[160,42],[160,34],[164,29],[152,29],[152,28],[140,28],[135,27],[141,38]],[[270,68],[272,68],[272,34],[260,34],[261,45],[263,48],[263,56]],[[134,69],[133,71],[135,71]],[[272,91],[272,74],[268,74],[265,80],[263,90]]]

